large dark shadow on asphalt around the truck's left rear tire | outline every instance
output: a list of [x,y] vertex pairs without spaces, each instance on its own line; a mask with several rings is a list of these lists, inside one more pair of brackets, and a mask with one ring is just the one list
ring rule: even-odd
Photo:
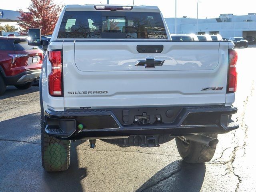
[[5,165],[0,166],[0,191],[84,191],[81,180],[87,172],[79,168],[79,144],[71,143],[67,171],[46,172],[41,163],[40,113],[0,122],[0,165]]

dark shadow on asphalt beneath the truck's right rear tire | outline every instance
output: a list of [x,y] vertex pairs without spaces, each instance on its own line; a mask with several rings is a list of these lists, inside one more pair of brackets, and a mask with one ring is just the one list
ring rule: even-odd
[[[179,164],[170,172],[173,164]],[[204,164],[187,164],[182,160],[172,162],[152,176],[136,192],[200,192],[204,182],[206,166]]]

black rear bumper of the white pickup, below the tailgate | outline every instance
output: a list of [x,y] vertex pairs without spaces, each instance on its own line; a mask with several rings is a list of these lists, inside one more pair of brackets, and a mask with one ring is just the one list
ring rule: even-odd
[[[231,120],[232,114],[236,112],[237,108],[226,106],[81,109],[62,112],[46,110],[45,131],[52,136],[69,140],[225,133],[239,127]],[[146,116],[148,122],[143,124]]]

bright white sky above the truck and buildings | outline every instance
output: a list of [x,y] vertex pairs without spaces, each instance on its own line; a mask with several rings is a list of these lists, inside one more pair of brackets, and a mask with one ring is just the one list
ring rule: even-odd
[[[177,17],[196,18],[198,0],[176,0]],[[216,18],[220,14],[247,15],[256,12],[255,0],[199,0],[198,18]],[[55,0],[62,4],[106,4],[107,0]],[[1,0],[0,9],[26,11],[31,0]],[[132,4],[132,0],[109,0],[110,4]],[[158,6],[164,18],[175,17],[175,0],[134,0],[136,5]],[[14,6],[15,5],[15,6]],[[2,25],[2,24],[1,24]]]

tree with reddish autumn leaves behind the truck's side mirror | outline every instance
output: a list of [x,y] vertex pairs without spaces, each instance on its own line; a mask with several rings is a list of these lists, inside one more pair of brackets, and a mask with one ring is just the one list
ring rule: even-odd
[[54,0],[31,0],[28,12],[20,12],[18,25],[23,32],[30,28],[40,28],[43,35],[52,34],[56,22],[62,10],[61,4],[54,3]]

